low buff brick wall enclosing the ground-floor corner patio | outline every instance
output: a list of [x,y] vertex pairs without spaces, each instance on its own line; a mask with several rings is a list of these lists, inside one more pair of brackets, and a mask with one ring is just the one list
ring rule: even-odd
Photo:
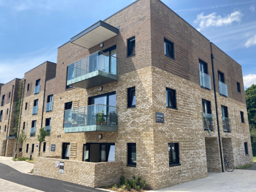
[[[64,173],[59,173],[55,162],[64,162]],[[35,157],[34,175],[67,181],[88,187],[100,187],[120,182],[122,162],[90,163],[56,158]]]

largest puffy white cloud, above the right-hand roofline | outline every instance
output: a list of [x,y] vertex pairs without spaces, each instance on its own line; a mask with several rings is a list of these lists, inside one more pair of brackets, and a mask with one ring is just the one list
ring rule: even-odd
[[242,14],[239,10],[234,10],[233,13],[226,17],[222,17],[220,15],[216,15],[215,12],[204,16],[204,13],[201,13],[200,15],[197,15],[197,19],[194,20],[194,23],[199,23],[199,28],[197,30],[201,30],[203,28],[209,27],[209,26],[223,26],[231,24],[232,22],[240,22]]

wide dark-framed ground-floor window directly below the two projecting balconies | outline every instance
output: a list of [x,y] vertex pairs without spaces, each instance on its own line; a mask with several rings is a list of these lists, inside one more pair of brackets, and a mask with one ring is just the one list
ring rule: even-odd
[[114,143],[84,144],[83,161],[93,162],[93,163],[115,161],[115,144]]

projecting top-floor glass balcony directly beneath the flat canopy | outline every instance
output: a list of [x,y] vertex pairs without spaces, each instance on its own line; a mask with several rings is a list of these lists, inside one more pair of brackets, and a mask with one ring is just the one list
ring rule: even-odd
[[68,66],[67,85],[89,89],[118,81],[119,59],[96,52]]

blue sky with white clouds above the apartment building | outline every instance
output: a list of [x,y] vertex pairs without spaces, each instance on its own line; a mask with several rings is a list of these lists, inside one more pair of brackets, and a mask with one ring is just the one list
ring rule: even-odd
[[[256,0],[162,0],[242,65],[256,84]],[[57,48],[133,0],[0,0],[0,83],[23,78]]]

